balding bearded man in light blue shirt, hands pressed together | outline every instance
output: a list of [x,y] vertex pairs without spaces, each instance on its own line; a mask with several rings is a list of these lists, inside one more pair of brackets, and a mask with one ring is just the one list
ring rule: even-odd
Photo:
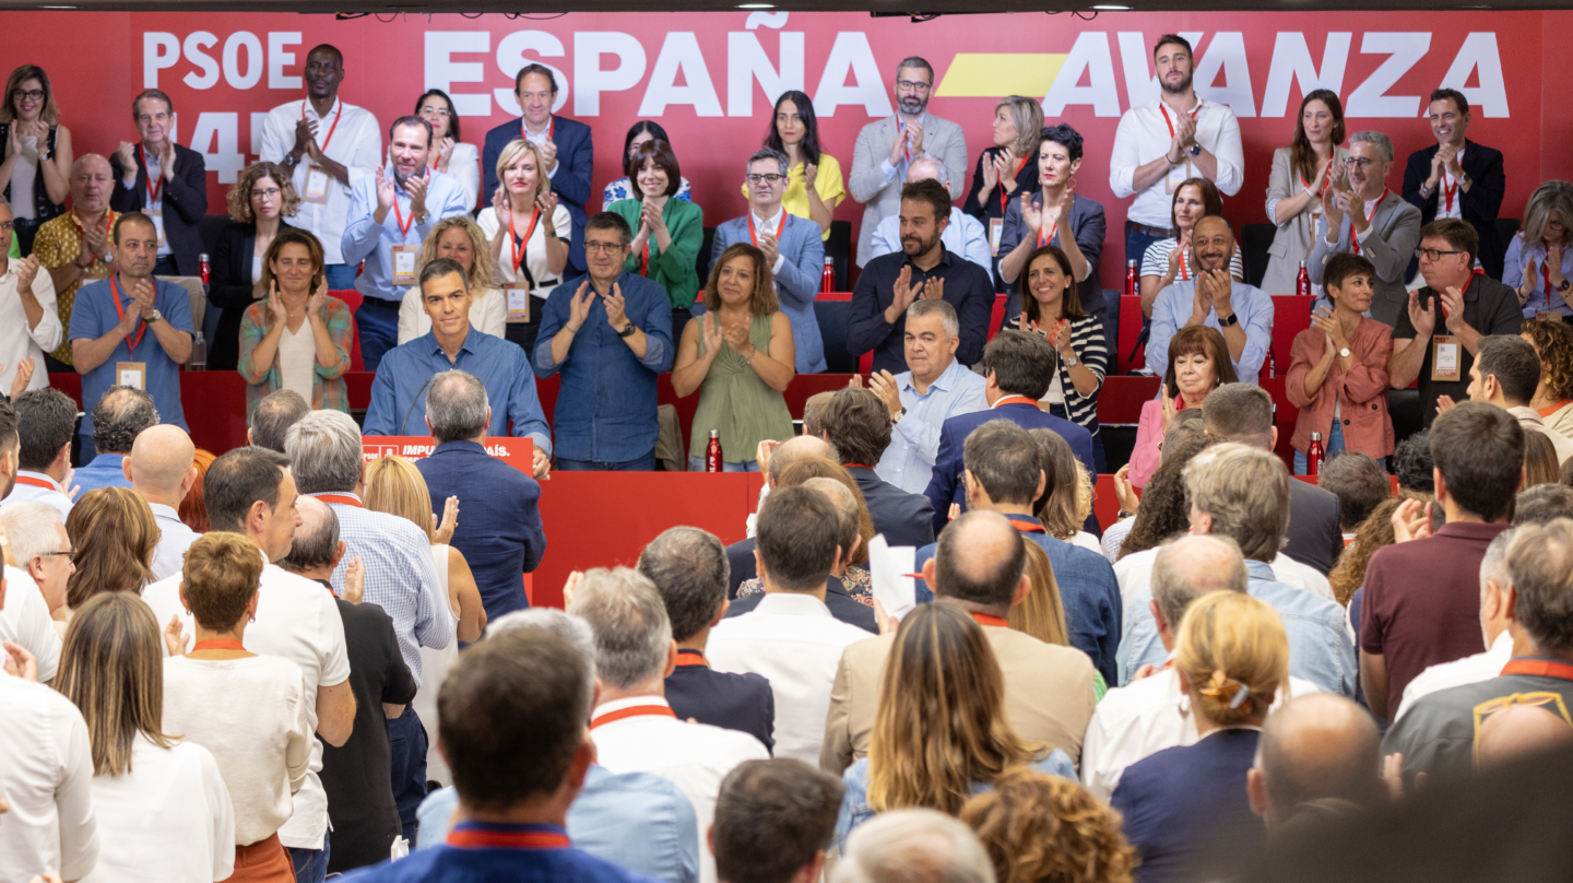
[[1273,343],[1273,299],[1262,290],[1229,275],[1235,257],[1235,231],[1229,219],[1210,214],[1191,228],[1192,279],[1175,282],[1153,301],[1153,337],[1147,364],[1169,364],[1169,338],[1181,327],[1216,327],[1229,345],[1240,382],[1257,382],[1268,345]]

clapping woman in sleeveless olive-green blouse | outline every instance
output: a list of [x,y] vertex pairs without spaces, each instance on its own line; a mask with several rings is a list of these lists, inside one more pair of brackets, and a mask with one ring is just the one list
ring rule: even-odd
[[791,438],[782,395],[796,375],[791,320],[780,312],[764,252],[736,244],[720,253],[705,285],[705,313],[689,320],[678,345],[672,387],[698,393],[689,471],[705,469],[709,431],[720,433],[727,472],[758,472],[764,439]]

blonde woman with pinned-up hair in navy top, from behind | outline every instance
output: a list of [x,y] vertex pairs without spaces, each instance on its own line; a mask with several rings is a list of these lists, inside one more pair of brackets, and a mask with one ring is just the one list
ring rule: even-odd
[[1246,773],[1262,721],[1288,682],[1288,636],[1265,601],[1213,592],[1180,622],[1173,664],[1199,738],[1128,767],[1109,801],[1142,855],[1142,880],[1191,878],[1210,837],[1236,825],[1262,829],[1246,800]]

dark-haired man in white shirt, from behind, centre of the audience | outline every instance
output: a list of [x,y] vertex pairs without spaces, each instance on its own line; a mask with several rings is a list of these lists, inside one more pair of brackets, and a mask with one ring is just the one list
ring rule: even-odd
[[848,644],[868,637],[831,615],[824,581],[842,559],[842,516],[812,488],[777,488],[760,505],[753,559],[764,600],[724,619],[706,645],[717,672],[755,672],[775,694],[775,757],[820,762],[831,683]]

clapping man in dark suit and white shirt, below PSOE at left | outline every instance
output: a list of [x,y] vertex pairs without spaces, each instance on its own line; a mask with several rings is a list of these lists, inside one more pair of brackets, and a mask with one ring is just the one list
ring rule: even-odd
[[200,153],[175,143],[175,102],[151,88],[131,102],[142,143],[120,142],[109,157],[115,211],[140,211],[159,230],[154,275],[201,275],[201,233],[208,214],[208,165]]

